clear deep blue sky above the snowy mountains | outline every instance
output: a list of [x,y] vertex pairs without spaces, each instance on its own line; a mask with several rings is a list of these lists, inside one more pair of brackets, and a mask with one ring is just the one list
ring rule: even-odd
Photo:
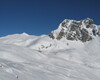
[[49,34],[64,19],[87,17],[100,25],[100,0],[0,0],[0,36]]

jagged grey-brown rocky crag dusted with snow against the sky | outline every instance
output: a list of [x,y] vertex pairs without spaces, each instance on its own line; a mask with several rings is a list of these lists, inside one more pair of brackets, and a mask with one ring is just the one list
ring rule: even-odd
[[95,25],[90,18],[81,21],[65,19],[49,36],[57,40],[66,38],[86,42],[100,36],[100,26]]

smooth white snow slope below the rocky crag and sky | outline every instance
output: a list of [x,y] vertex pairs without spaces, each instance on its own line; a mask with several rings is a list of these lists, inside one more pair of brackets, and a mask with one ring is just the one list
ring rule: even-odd
[[1,37],[0,80],[100,80],[100,38],[82,43],[25,33]]

